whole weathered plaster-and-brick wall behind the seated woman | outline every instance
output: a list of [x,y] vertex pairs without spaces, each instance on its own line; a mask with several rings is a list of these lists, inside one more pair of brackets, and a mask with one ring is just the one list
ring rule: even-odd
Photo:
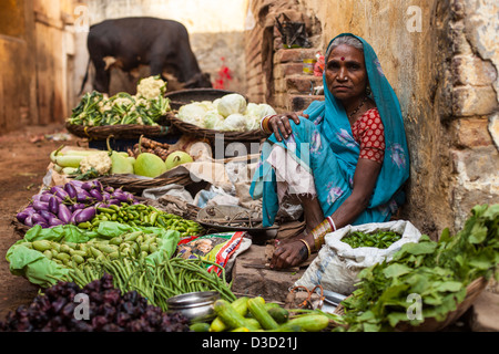
[[[410,150],[401,218],[437,238],[444,228],[459,229],[472,206],[499,201],[497,2],[254,0],[249,10],[255,25],[246,31],[248,95],[281,111],[307,104],[293,101],[307,87],[294,77],[303,58],[324,53],[342,32],[373,45],[399,97]],[[312,50],[276,45],[279,33],[271,29],[269,14],[283,11],[309,21]]]

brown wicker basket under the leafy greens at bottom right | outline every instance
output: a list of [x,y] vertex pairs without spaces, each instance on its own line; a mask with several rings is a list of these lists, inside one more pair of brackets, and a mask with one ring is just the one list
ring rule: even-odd
[[[460,302],[455,311],[451,311],[447,314],[447,317],[444,321],[437,321],[434,317],[426,319],[419,325],[410,325],[406,322],[399,322],[395,326],[395,331],[397,332],[438,332],[444,330],[445,327],[455,323],[468,309],[472,305],[473,301],[480,295],[480,293],[487,287],[487,279],[483,277],[475,279],[466,288],[466,298]],[[335,313],[343,315],[345,314],[344,306],[339,304]]]

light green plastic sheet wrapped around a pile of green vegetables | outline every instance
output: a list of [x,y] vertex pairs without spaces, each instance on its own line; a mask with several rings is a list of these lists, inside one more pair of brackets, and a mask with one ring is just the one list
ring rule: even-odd
[[28,230],[22,240],[17,241],[9,248],[6,259],[9,262],[9,269],[13,275],[24,277],[33,284],[47,288],[54,284],[58,280],[64,279],[64,275],[69,273],[70,268],[58,264],[47,258],[42,252],[34,249],[29,249],[22,243],[37,240],[84,243],[93,238],[112,239],[113,237],[132,231],[155,233],[162,239],[162,243],[159,244],[157,251],[145,258],[149,262],[161,261],[164,257],[172,257],[180,240],[179,231],[152,227],[134,228],[114,221],[101,222],[95,231],[83,230],[73,225],[63,225],[47,229],[43,229],[40,226],[34,226]]

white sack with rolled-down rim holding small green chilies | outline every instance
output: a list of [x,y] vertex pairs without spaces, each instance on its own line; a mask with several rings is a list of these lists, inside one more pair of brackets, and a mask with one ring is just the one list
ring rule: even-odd
[[[366,233],[393,231],[400,235],[401,238],[386,249],[376,247],[352,248],[348,243],[343,242],[342,239],[355,231]],[[346,226],[326,235],[325,243],[317,257],[294,285],[302,285],[307,289],[322,285],[324,290],[348,296],[356,289],[357,274],[363,269],[384,260],[389,261],[394,253],[400,250],[403,244],[408,242],[417,243],[420,237],[421,232],[406,220]]]

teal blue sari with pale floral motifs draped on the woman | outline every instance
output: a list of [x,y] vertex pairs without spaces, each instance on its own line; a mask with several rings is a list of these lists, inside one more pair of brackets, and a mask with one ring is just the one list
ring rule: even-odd
[[[390,219],[405,199],[401,187],[409,177],[407,140],[398,98],[381,71],[376,53],[364,39],[353,37],[364,45],[370,97],[385,126],[386,144],[383,166],[369,205],[353,225],[384,222]],[[335,212],[353,191],[360,146],[354,139],[343,104],[327,90],[325,73],[323,82],[325,101],[315,101],[304,111],[308,119],[301,117],[299,124],[291,121],[293,134],[287,139],[278,142],[273,134],[262,146],[249,194],[253,199],[262,198],[264,227],[274,223],[279,209],[276,175],[267,162],[275,145],[284,147],[288,156],[312,174],[325,217]]]

